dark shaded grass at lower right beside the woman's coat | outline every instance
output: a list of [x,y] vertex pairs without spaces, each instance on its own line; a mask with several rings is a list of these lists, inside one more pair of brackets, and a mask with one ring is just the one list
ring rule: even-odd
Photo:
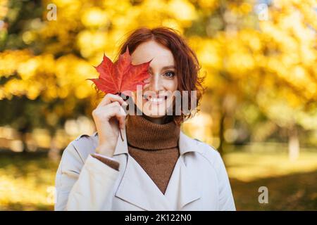
[[[317,171],[240,181],[230,179],[237,210],[317,210]],[[268,204],[258,201],[268,188]]]

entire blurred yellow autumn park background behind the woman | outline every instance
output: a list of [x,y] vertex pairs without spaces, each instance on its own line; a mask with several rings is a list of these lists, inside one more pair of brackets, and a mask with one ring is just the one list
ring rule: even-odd
[[0,210],[53,210],[63,149],[94,132],[92,65],[162,25],[200,60],[182,129],[223,155],[237,210],[317,210],[315,0],[0,0]]

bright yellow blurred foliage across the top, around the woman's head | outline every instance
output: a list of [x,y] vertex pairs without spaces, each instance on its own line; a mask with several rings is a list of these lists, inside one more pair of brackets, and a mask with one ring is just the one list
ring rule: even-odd
[[[225,27],[215,35],[208,32],[212,23],[202,24],[219,9],[220,2],[214,0],[43,0],[44,5],[50,3],[58,8],[57,20],[46,20],[44,11],[42,21],[31,23],[37,29],[26,29],[21,37],[25,44],[43,42],[42,53],[35,56],[27,49],[0,53],[0,77],[8,78],[0,87],[1,99],[94,96],[92,83],[86,79],[97,77],[92,65],[100,63],[103,53],[114,59],[128,32],[164,25],[181,34],[201,26],[202,35],[191,32],[185,38],[207,74],[206,87],[219,98],[227,93],[242,101],[244,96],[262,96],[265,101],[256,100],[261,108],[270,108],[271,99],[277,97],[286,99],[285,105],[291,108],[316,101],[316,1],[273,1],[268,20],[256,21],[259,29],[238,21],[252,13],[251,2],[225,1],[224,22],[218,18]],[[0,16],[7,4],[1,1]],[[284,91],[277,91],[277,86]]]

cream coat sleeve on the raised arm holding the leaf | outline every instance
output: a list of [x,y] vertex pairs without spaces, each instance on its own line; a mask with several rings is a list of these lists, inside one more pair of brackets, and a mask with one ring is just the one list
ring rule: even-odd
[[83,162],[72,143],[64,150],[56,172],[55,210],[111,210],[119,172],[108,165],[110,159],[93,155]]

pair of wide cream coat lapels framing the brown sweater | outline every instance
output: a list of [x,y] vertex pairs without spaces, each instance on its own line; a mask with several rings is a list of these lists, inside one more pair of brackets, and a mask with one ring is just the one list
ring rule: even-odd
[[128,154],[125,129],[121,129],[121,132],[123,134],[123,141],[119,136],[114,155],[126,153],[127,162],[123,177],[116,191],[116,197],[143,210],[159,211],[173,210],[173,204],[170,203],[170,200],[172,200],[170,198],[171,195],[176,197],[174,200],[178,201],[177,205],[180,209],[201,197],[197,168],[186,163],[186,158],[190,157],[187,153],[200,152],[196,141],[190,139],[180,131],[180,158],[173,170],[166,194],[163,195],[144,169]]

